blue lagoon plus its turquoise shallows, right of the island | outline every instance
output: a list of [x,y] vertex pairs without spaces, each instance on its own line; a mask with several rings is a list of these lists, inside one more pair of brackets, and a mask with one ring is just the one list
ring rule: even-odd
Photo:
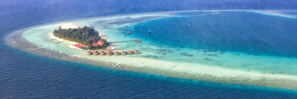
[[296,18],[229,11],[182,12],[108,29],[120,36],[132,31],[127,38],[144,41],[139,49],[151,52],[146,58],[297,75],[296,25]]

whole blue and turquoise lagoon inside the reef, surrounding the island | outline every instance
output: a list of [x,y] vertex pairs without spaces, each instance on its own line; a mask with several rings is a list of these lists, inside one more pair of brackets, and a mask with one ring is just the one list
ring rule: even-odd
[[[119,57],[297,76],[297,21],[292,16],[251,11],[126,14],[42,25],[28,29],[23,37],[28,41],[53,44],[55,41],[34,36],[45,37],[66,23],[93,27],[108,41],[142,40],[142,43],[111,44],[126,51],[138,49],[141,52],[139,55]],[[128,35],[127,31],[131,34]],[[151,33],[148,34],[148,31]],[[62,47],[50,45],[51,50],[69,55],[86,53],[76,49],[60,50]],[[159,66],[162,67],[162,64]]]

